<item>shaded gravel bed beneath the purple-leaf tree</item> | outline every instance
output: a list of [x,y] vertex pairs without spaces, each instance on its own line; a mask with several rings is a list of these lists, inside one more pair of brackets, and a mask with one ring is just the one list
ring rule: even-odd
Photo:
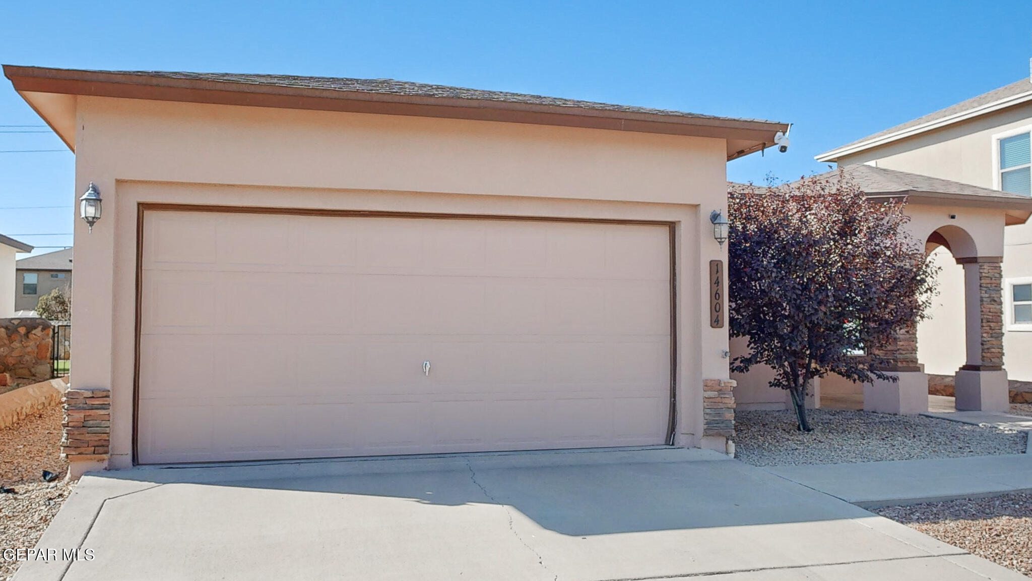
[[1025,433],[924,416],[813,409],[810,433],[788,410],[736,411],[735,456],[754,466],[840,464],[1025,453]]

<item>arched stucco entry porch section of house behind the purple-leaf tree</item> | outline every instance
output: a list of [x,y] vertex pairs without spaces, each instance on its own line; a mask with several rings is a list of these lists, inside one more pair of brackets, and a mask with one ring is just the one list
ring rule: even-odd
[[[957,407],[1006,409],[1009,402],[1003,363],[999,256],[1003,253],[1005,225],[1026,223],[1032,216],[1032,197],[880,166],[853,164],[841,170],[872,202],[905,198],[904,212],[910,218],[906,228],[914,242],[932,254],[943,249],[955,265],[961,265],[957,267],[961,271],[959,307],[935,313],[958,328],[957,340],[962,345],[960,362],[949,371],[949,375],[956,374]],[[836,170],[816,179],[837,180],[838,176]],[[860,386],[831,375],[812,386],[810,404],[818,406],[821,393],[852,393],[862,394],[864,408],[872,411],[928,411],[929,380],[918,360],[920,344],[915,333],[902,332],[894,344],[883,349],[891,363],[881,371],[895,375],[896,381]],[[746,348],[746,339],[737,338],[731,343],[731,356],[744,355]],[[771,377],[772,371],[764,366],[749,373],[732,374],[738,381],[738,408],[785,408],[787,392],[771,388]]]

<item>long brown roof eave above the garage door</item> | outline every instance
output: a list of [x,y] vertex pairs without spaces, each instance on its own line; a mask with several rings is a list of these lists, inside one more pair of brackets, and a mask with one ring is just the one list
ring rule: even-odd
[[749,119],[663,115],[490,99],[398,95],[14,65],[4,65],[3,69],[4,74],[20,93],[58,93],[506,121],[717,137],[748,143],[744,148],[736,146],[734,151],[729,148],[729,159],[769,147],[773,145],[776,132],[788,130],[787,123]]

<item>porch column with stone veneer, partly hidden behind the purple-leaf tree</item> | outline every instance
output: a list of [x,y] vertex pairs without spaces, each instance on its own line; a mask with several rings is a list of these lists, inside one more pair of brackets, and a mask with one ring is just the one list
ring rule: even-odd
[[917,326],[898,332],[876,355],[885,361],[879,371],[895,380],[864,385],[864,409],[882,414],[928,411],[928,375],[917,363]]

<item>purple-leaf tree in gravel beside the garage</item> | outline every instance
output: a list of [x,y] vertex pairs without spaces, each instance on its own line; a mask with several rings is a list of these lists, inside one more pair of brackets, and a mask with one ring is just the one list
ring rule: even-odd
[[936,269],[904,227],[905,204],[868,200],[841,172],[729,192],[729,320],[748,337],[732,370],[773,368],[802,431],[812,379],[895,380],[882,371],[894,338],[925,317]]

